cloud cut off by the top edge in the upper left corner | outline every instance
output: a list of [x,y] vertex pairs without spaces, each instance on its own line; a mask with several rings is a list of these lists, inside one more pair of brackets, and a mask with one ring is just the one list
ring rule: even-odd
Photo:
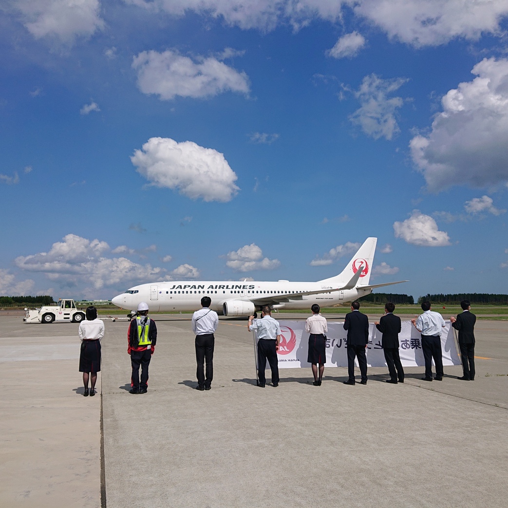
[[18,0],[25,27],[36,39],[54,37],[73,43],[104,28],[99,0]]

